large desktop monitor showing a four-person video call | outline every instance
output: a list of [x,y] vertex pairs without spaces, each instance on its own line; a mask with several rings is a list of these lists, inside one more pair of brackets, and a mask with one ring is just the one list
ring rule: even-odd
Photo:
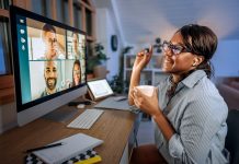
[[18,122],[23,126],[87,93],[86,33],[11,7]]

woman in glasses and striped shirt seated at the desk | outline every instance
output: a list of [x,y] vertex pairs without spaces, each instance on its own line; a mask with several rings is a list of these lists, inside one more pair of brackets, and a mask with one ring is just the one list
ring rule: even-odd
[[162,70],[170,77],[151,97],[135,86],[149,62],[149,52],[137,54],[129,85],[129,104],[156,122],[157,149],[168,163],[227,163],[224,149],[228,108],[208,79],[216,35],[206,26],[185,25],[164,42]]

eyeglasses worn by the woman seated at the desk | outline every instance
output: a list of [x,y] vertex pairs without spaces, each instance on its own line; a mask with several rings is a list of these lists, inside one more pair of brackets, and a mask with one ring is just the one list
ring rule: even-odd
[[162,50],[171,50],[173,55],[179,55],[181,52],[192,52],[191,49],[186,48],[185,46],[173,45],[172,43],[166,40],[162,44]]

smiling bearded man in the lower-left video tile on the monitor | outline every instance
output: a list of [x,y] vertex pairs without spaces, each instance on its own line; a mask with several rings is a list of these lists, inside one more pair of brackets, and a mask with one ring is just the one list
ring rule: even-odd
[[58,92],[58,89],[56,87],[57,75],[57,61],[44,61],[44,79],[46,87],[45,91],[41,94],[41,97]]

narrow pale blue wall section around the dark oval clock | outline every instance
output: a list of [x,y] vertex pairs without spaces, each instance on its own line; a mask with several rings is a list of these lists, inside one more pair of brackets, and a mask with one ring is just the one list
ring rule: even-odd
[[[104,52],[110,58],[106,61],[106,68],[110,71],[107,79],[112,79],[112,77],[117,74],[120,71],[120,55],[123,48],[122,39],[114,21],[114,14],[111,10],[105,8],[96,9],[95,19],[96,43],[101,43],[104,46]],[[118,38],[118,48],[116,51],[111,49],[112,35],[117,35]]]

